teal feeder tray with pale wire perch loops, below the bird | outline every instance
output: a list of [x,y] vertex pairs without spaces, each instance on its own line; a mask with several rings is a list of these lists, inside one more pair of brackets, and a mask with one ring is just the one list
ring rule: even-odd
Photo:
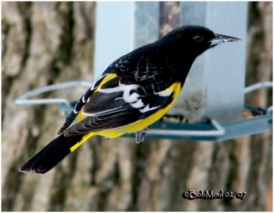
[[[62,84],[54,84],[44,88],[29,91],[15,100],[17,104],[52,104],[58,103],[58,107],[62,110],[64,116],[67,116],[73,110],[74,102],[66,99],[29,99],[34,95],[52,90],[59,90],[63,88],[71,88],[75,86],[88,86],[92,84],[89,82],[66,82]],[[272,82],[260,82],[245,88],[245,94],[257,90],[262,87],[271,87]],[[245,109],[248,110],[252,116],[243,118],[240,121],[232,121],[228,123],[218,123],[214,119],[209,118],[206,123],[182,123],[182,122],[167,122],[158,121],[149,125],[147,129],[147,138],[169,138],[177,140],[211,140],[221,141],[241,136],[249,136],[268,131],[273,123],[272,106],[267,110],[257,108],[253,105],[245,104]],[[135,134],[125,134],[123,137],[134,137]]]

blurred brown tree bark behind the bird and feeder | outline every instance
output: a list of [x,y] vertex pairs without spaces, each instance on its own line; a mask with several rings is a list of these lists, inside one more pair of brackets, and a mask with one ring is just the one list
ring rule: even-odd
[[[180,4],[160,3],[158,36],[179,25]],[[93,81],[98,5],[1,5],[2,210],[272,211],[272,131],[223,142],[147,138],[141,145],[134,138],[94,137],[45,175],[19,173],[29,156],[55,138],[64,116],[56,105],[16,105],[14,100],[42,86]],[[246,86],[272,80],[272,8],[272,2],[248,3]],[[85,90],[40,97],[75,101]],[[272,90],[252,92],[245,101],[267,108]],[[247,195],[243,200],[189,201],[182,199],[186,190]]]

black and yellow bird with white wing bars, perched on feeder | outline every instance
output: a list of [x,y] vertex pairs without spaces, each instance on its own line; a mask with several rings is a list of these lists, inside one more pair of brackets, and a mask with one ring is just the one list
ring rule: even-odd
[[88,138],[116,138],[146,128],[171,108],[190,67],[204,51],[240,40],[207,27],[183,25],[159,40],[114,60],[75,103],[58,137],[27,160],[19,171],[47,173]]

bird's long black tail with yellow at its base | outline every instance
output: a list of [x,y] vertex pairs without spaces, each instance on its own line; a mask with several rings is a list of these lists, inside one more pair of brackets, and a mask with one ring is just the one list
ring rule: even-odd
[[66,137],[64,134],[58,136],[42,150],[38,151],[32,158],[29,158],[19,171],[26,173],[35,171],[36,173],[47,173],[53,166],[63,160],[66,155],[77,149],[83,142],[90,138],[92,134]]

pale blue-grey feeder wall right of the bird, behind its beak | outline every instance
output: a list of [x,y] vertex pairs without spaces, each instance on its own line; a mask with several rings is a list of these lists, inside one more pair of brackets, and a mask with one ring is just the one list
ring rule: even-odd
[[247,2],[181,2],[181,25],[202,25],[241,38],[221,44],[195,60],[171,114],[190,121],[208,116],[218,122],[242,118],[245,88]]

